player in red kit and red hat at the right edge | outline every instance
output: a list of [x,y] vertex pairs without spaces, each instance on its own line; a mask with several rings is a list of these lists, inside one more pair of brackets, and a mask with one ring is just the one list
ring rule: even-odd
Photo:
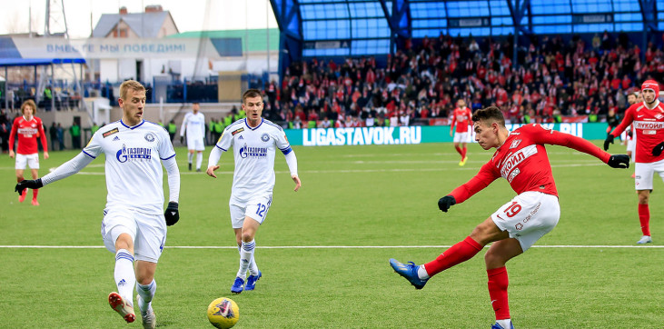
[[653,174],[657,173],[664,180],[664,106],[659,103],[659,84],[655,80],[647,80],[641,85],[643,102],[629,106],[620,125],[607,136],[604,150],[609,143],[631,125],[632,134],[636,139],[634,149],[634,184],[639,194],[639,222],[641,238],[637,244],[649,244],[650,210],[648,201],[652,191]]

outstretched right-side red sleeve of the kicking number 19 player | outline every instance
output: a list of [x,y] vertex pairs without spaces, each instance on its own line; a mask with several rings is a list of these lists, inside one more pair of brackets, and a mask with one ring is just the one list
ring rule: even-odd
[[555,130],[546,129],[541,125],[528,125],[528,131],[535,144],[549,144],[569,147],[571,149],[592,155],[605,164],[609,162],[611,155],[602,151],[600,147],[575,135],[560,133]]

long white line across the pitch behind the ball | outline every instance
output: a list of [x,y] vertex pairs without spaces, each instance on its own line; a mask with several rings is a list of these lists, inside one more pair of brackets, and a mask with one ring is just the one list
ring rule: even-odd
[[[257,245],[259,249],[397,249],[449,248],[451,245]],[[488,246],[486,246],[488,247]],[[104,245],[0,245],[5,249],[104,249]],[[166,245],[169,249],[237,249],[232,245]],[[664,245],[533,245],[531,248],[646,248],[664,249]]]

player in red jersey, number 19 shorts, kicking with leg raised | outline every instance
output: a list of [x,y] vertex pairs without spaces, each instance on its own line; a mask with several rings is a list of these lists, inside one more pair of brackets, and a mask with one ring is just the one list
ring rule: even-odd
[[496,106],[475,112],[472,121],[478,144],[485,150],[496,148],[496,152],[468,183],[442,197],[438,201],[439,208],[447,212],[451,205],[468,200],[499,177],[507,179],[518,195],[477,225],[471,235],[433,261],[415,265],[390,259],[390,264],[395,272],[421,289],[431,276],[471,259],[486,244],[492,243],[484,255],[491,306],[496,314],[496,324],[491,328],[513,328],[505,264],[549,233],[560,219],[558,191],[544,145],[567,146],[593,155],[613,168],[628,168],[629,157],[609,155],[585,139],[548,130],[541,125],[524,125],[510,133]]

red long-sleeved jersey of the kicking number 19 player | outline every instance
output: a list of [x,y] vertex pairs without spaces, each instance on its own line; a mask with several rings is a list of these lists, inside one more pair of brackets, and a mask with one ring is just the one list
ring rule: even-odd
[[537,124],[524,125],[511,132],[505,143],[493,154],[491,161],[482,165],[478,174],[468,183],[455,188],[451,195],[461,204],[497,178],[503,177],[517,194],[536,191],[558,196],[545,144],[567,146],[593,155],[604,163],[611,156],[583,138]]

